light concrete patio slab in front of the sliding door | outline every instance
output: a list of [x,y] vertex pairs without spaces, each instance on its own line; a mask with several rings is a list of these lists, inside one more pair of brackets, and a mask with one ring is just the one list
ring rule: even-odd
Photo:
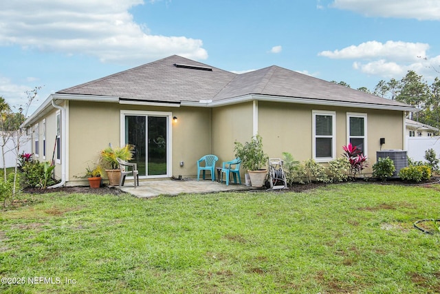
[[225,191],[247,191],[254,187],[212,182],[211,180],[148,180],[140,181],[138,187],[133,187],[133,181],[126,181],[120,189],[137,198],[153,198],[159,195],[178,195],[180,193],[214,193]]

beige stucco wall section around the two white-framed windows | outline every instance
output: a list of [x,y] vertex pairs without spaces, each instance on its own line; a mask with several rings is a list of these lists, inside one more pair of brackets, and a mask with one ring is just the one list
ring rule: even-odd
[[283,151],[300,161],[312,158],[313,110],[336,112],[337,157],[343,153],[342,146],[347,145],[347,112],[366,114],[370,169],[376,161],[376,151],[380,150],[380,138],[386,140],[382,149],[404,149],[402,112],[259,102],[259,134],[265,152],[271,158],[281,158]]

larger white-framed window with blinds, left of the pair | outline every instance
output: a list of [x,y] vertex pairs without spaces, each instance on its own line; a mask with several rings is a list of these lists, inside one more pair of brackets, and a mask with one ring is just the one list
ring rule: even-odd
[[323,162],[335,157],[334,112],[314,112],[314,159]]

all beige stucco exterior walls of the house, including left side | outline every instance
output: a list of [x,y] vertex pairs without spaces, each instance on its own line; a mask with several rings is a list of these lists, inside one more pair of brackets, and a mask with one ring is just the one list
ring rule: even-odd
[[[120,112],[169,112],[177,116],[172,124],[172,175],[195,177],[197,159],[206,154],[219,156],[217,165],[234,158],[234,142],[244,143],[252,138],[252,102],[223,107],[151,107],[120,105],[118,103],[91,103],[70,101],[66,105],[67,121],[67,185],[82,185],[87,165],[99,158],[99,151],[111,143],[120,145]],[[375,162],[375,152],[380,149],[380,138],[386,139],[383,149],[404,149],[402,112],[353,109],[347,107],[320,107],[289,103],[258,103],[258,131],[263,137],[265,152],[273,158],[283,151],[292,153],[296,160],[312,157],[312,110],[336,111],[337,156],[342,145],[347,144],[347,112],[367,115],[368,157],[370,169]],[[46,161],[52,160],[56,134],[56,109],[46,119]],[[40,126],[40,154],[43,154],[43,118]],[[35,125],[35,124],[34,124]],[[33,126],[34,126],[33,125]],[[34,136],[34,134],[33,134]],[[34,151],[34,137],[32,137]],[[40,155],[39,160],[44,161]],[[180,167],[179,162],[184,166]],[[243,172],[244,174],[244,172]],[[56,178],[61,178],[61,166],[56,165]],[[243,175],[242,175],[243,178]]]

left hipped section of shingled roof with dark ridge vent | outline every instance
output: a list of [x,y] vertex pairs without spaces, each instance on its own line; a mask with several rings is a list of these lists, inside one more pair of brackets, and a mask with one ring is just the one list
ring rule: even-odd
[[232,72],[173,55],[56,94],[116,96],[124,100],[168,103],[198,102],[212,99],[235,76]]

